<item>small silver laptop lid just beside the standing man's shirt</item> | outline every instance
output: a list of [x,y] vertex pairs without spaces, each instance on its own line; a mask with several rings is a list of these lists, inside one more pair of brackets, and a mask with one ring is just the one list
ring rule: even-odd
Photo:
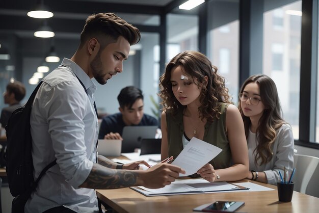
[[97,152],[103,156],[120,156],[122,148],[121,140],[99,139]]

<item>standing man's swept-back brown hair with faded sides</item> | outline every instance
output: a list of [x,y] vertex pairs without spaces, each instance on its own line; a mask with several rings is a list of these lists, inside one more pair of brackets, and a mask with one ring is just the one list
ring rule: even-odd
[[138,43],[141,38],[139,29],[114,13],[93,14],[86,20],[81,33],[80,47],[87,40],[96,38],[101,43],[101,47],[104,48],[106,45],[116,42],[119,36],[123,36],[130,45]]

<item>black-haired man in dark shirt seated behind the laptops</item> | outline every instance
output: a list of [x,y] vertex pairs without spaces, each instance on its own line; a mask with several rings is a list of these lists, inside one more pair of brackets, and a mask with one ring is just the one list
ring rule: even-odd
[[117,96],[120,113],[102,119],[98,134],[99,139],[120,139],[124,126],[157,126],[157,120],[144,114],[143,94],[139,88],[129,86]]

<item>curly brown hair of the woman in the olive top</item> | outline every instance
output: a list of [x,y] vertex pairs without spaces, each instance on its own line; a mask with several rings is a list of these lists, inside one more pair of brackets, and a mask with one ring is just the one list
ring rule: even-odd
[[[231,103],[225,79],[217,73],[217,67],[211,65],[208,58],[198,51],[183,51],[175,56],[166,66],[165,73],[159,78],[159,94],[163,100],[163,110],[170,109],[173,115],[186,106],[180,104],[172,91],[171,71],[180,66],[185,75],[191,76],[194,83],[202,90],[200,95],[201,106],[198,108],[200,118],[212,122],[219,118],[219,102]],[[207,76],[207,86],[204,77]],[[201,86],[200,86],[201,85]]]

